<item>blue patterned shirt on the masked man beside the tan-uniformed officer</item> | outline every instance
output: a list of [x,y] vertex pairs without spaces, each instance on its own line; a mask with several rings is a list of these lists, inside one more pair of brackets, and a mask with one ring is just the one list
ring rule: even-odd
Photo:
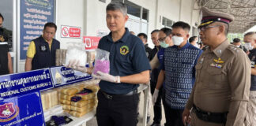
[[202,50],[186,43],[182,48],[164,50],[162,68],[165,72],[165,101],[172,109],[184,109],[194,84],[194,66]]

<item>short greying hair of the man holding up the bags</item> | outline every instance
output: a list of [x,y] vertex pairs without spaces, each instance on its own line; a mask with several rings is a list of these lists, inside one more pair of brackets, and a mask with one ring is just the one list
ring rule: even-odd
[[120,10],[124,16],[127,14],[127,6],[122,2],[113,1],[107,5],[107,10]]

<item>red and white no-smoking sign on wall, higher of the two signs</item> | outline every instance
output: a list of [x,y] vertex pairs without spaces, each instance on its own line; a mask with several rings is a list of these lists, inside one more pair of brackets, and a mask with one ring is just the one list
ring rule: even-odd
[[62,25],[62,38],[81,38],[81,28]]

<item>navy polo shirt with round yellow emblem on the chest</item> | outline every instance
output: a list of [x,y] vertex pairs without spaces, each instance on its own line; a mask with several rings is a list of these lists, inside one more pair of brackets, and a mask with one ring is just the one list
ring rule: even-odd
[[[101,50],[110,52],[110,74],[112,76],[130,76],[150,69],[145,47],[137,36],[130,34],[126,28],[122,39],[113,42],[111,32],[100,39]],[[134,91],[138,85],[131,83],[111,83],[101,80],[100,90],[109,94],[126,94]]]

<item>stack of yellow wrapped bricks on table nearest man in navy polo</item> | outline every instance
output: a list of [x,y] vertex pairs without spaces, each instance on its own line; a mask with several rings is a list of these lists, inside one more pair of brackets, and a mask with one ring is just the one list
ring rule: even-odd
[[[81,91],[89,89],[91,93],[81,93]],[[70,87],[64,87],[60,90],[59,101],[66,113],[70,113],[73,117],[82,117],[86,113],[92,111],[97,105],[96,93],[99,87],[95,84],[84,82],[73,84]],[[81,98],[77,102],[71,101],[71,98],[77,96]]]

